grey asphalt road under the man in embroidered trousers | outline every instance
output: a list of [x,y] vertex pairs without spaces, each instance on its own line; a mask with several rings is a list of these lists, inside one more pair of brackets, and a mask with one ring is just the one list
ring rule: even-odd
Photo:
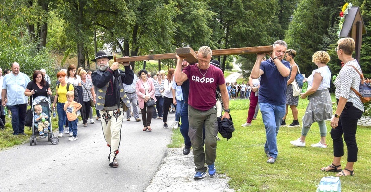
[[[174,114],[169,114],[169,127],[173,122]],[[100,119],[88,127],[80,121],[77,141],[68,141],[64,134],[57,145],[38,139],[37,146],[26,143],[1,151],[0,192],[142,192],[171,141],[172,131],[163,128],[162,120],[152,119],[151,127],[152,132],[144,132],[142,122],[133,117],[124,121],[118,168],[108,166]]]

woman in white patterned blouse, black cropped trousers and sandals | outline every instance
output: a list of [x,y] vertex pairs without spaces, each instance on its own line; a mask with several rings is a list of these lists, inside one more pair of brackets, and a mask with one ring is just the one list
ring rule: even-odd
[[[351,90],[358,91],[361,77],[352,67],[362,73],[362,70],[352,53],[355,50],[355,42],[352,38],[339,39],[338,47],[335,48],[338,58],[344,66],[335,79],[335,97],[338,103],[335,115],[331,118],[331,138],[334,145],[334,159],[331,165],[321,168],[322,171],[339,172],[336,176],[352,176],[354,162],[357,161],[358,147],[355,140],[358,119],[364,111],[359,97]],[[347,164],[344,170],[341,167],[341,157],[344,156],[344,141],[348,148]]]

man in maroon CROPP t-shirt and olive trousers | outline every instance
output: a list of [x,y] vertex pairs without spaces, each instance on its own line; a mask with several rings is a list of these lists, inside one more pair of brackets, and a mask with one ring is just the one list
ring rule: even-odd
[[[175,68],[175,82],[181,85],[189,79],[188,96],[188,135],[191,139],[194,164],[196,174],[194,179],[201,179],[206,176],[208,169],[209,175],[216,174],[214,162],[216,159],[216,88],[222,93],[222,100],[225,107],[223,118],[229,117],[229,97],[226,89],[226,82],[222,70],[210,65],[212,51],[210,47],[203,46],[198,50],[198,63],[189,65],[182,71],[182,60],[185,58],[177,57],[177,67]],[[205,140],[203,139],[202,129],[205,126]],[[205,142],[205,152],[203,144]],[[205,158],[206,157],[206,158]],[[208,167],[205,166],[205,162]]]

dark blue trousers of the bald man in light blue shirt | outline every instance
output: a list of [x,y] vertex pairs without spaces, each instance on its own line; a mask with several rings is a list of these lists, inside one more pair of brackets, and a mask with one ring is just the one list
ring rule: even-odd
[[26,118],[27,104],[8,106],[12,112],[13,135],[24,133],[24,121]]

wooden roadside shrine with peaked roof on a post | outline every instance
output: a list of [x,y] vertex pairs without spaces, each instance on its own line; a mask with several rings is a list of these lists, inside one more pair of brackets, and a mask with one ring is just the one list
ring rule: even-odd
[[365,23],[359,7],[351,7],[345,17],[340,37],[351,37],[355,41],[355,59],[359,62],[362,46],[362,35],[366,34]]

